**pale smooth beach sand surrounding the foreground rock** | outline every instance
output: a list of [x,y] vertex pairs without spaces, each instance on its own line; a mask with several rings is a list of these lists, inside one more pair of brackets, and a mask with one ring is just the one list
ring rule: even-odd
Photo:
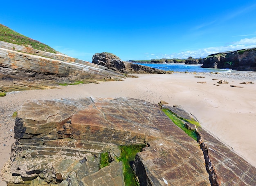
[[[9,158],[13,138],[14,111],[23,102],[33,99],[64,97],[132,97],[157,104],[161,100],[182,107],[193,114],[201,126],[227,144],[250,164],[256,166],[256,84],[240,84],[245,79],[229,79],[219,84],[210,74],[195,78],[194,74],[139,74],[124,81],[60,86],[59,89],[9,93],[0,97],[0,168]],[[207,82],[200,84],[197,82]],[[255,81],[256,83],[256,81]],[[230,85],[244,88],[231,87]],[[0,181],[0,186],[5,183]]]

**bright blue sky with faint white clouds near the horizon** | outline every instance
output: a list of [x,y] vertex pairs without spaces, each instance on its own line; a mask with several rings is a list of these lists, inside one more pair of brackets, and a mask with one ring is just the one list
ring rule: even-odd
[[3,0],[0,23],[75,58],[206,57],[256,47],[256,0]]

